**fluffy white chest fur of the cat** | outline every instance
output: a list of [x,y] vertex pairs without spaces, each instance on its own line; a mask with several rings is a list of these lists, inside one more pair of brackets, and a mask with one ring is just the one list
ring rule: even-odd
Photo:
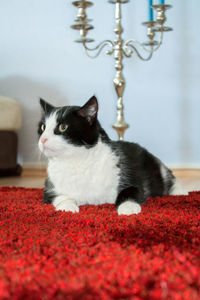
[[74,152],[49,160],[48,175],[57,195],[77,205],[114,203],[119,184],[118,158],[99,141],[91,149],[74,147]]

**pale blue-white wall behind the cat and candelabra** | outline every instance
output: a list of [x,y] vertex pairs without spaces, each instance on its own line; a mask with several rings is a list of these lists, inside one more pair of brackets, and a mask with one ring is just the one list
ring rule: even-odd
[[[150,62],[136,56],[124,61],[126,139],[139,142],[167,164],[200,166],[200,2],[169,0],[164,43]],[[114,5],[94,1],[88,15],[97,42],[113,39]],[[141,22],[147,0],[123,5],[124,39],[146,40]],[[94,93],[99,118],[109,135],[116,116],[112,80],[114,59],[95,60],[74,43],[76,9],[67,0],[0,0],[0,94],[22,105],[19,156],[23,163],[40,161],[37,151],[39,97],[57,105],[81,105]]]

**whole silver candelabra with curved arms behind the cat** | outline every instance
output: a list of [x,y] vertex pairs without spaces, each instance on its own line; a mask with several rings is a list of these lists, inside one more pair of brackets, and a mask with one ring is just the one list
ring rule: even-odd
[[[142,23],[147,27],[147,37],[148,41],[140,43],[135,39],[130,39],[123,41],[122,32],[123,28],[121,25],[121,4],[129,2],[129,0],[108,0],[109,3],[115,4],[115,39],[114,41],[105,40],[102,41],[94,48],[88,47],[88,43],[93,42],[93,39],[87,37],[88,31],[94,27],[90,24],[91,19],[87,18],[86,9],[93,5],[91,1],[74,1],[72,4],[78,8],[77,18],[75,19],[75,24],[72,25],[73,29],[79,30],[80,39],[76,42],[81,43],[85,49],[85,53],[90,58],[96,58],[104,47],[108,46],[109,48],[106,51],[107,55],[114,55],[115,58],[115,69],[116,74],[113,80],[115,90],[117,93],[117,120],[113,124],[113,128],[117,131],[119,139],[124,139],[124,132],[129,127],[129,125],[124,120],[124,105],[123,105],[123,92],[125,87],[125,79],[123,76],[123,58],[131,57],[135,53],[141,60],[147,61],[150,60],[153,53],[158,50],[163,41],[163,32],[171,31],[172,28],[164,26],[166,22],[165,12],[171,7],[167,4],[158,4],[152,5],[152,8],[157,12],[155,21],[148,21]],[[155,40],[156,33],[159,33],[159,39]],[[143,57],[138,47],[141,47],[147,52],[147,56]],[[91,55],[89,52],[94,51],[94,55]],[[96,51],[96,53],[95,53]]]

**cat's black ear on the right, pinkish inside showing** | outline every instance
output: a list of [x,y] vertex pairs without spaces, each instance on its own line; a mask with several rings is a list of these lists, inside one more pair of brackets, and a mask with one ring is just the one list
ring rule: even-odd
[[91,97],[78,111],[79,116],[85,118],[90,125],[97,119],[97,113],[98,101],[95,96]]

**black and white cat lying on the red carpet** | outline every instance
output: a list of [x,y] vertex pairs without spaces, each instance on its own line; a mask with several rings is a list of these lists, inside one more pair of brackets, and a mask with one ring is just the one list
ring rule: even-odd
[[148,197],[183,191],[172,172],[138,144],[111,141],[97,120],[93,96],[84,106],[54,107],[40,99],[39,149],[48,158],[44,203],[79,212],[84,204],[116,204],[141,212]]

